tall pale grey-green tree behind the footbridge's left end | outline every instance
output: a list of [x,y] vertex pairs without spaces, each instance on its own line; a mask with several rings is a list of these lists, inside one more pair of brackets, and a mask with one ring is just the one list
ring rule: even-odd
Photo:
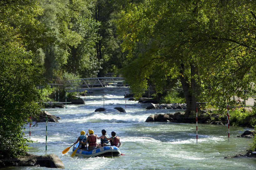
[[[87,0],[40,1],[43,15],[38,19],[45,26],[46,43],[42,46],[45,76],[52,80],[64,71],[76,75],[96,75],[98,62],[93,48],[98,23],[89,10]],[[95,62],[96,61],[96,62]]]

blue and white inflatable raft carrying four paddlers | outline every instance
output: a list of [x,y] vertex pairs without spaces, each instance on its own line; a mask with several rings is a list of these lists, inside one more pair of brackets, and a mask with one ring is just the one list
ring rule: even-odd
[[[79,146],[79,142],[73,146],[73,152],[76,150],[76,148]],[[83,150],[83,149],[77,149],[77,152],[75,153],[76,156],[83,156],[86,158],[89,157],[100,157],[100,156],[120,156],[121,151],[116,146],[103,146],[101,148],[97,148],[94,150]]]

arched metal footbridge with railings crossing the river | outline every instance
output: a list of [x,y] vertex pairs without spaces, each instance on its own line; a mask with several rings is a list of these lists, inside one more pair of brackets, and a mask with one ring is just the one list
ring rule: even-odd
[[128,89],[123,77],[96,77],[68,80],[69,91],[104,90],[104,89]]

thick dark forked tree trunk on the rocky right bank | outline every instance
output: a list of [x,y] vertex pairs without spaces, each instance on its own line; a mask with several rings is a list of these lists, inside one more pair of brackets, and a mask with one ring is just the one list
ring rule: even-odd
[[180,81],[185,96],[187,109],[185,115],[190,116],[196,112],[197,107],[197,97],[200,95],[200,83],[198,79],[198,68],[193,64],[190,64],[191,78],[184,75],[186,66],[182,63],[180,69]]

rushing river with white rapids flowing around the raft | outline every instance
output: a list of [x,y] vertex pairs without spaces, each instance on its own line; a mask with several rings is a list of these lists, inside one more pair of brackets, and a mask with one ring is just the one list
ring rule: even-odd
[[[124,98],[125,91],[105,91],[105,108],[123,107],[126,113],[94,112],[103,107],[103,93],[96,91],[88,94],[83,105],[67,105],[64,108],[46,109],[49,113],[60,116],[59,123],[48,122],[47,153],[53,153],[63,161],[68,170],[248,170],[256,169],[256,159],[227,158],[236,154],[244,154],[251,138],[236,138],[245,130],[242,127],[225,125],[198,124],[198,144],[196,144],[196,124],[185,123],[145,123],[147,117],[158,113],[176,113],[184,110],[158,109],[146,110],[146,105]],[[126,103],[126,104],[125,104]],[[31,128],[29,152],[36,155],[45,154],[46,123],[38,123]],[[115,131],[122,143],[120,150],[124,154],[119,157],[71,158],[72,148],[66,153],[62,151],[71,146],[80,135],[80,131],[93,129],[94,134],[101,135],[106,129],[110,135]],[[29,126],[26,136],[29,135]],[[99,142],[99,140],[98,140]],[[10,167],[4,170],[46,170],[45,167]]]

